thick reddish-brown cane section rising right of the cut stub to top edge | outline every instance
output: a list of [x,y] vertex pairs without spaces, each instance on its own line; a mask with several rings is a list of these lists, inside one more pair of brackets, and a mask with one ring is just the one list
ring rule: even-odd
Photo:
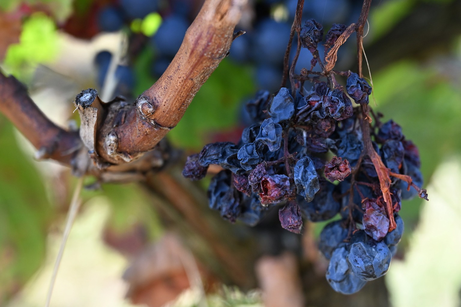
[[[125,107],[110,110],[98,137],[97,152],[107,162],[124,163],[118,154],[139,156],[151,150],[183,117],[192,98],[227,55],[235,25],[246,0],[207,0],[186,32],[183,43],[165,73]],[[110,114],[113,116],[110,116]],[[117,143],[115,152],[106,144]]]

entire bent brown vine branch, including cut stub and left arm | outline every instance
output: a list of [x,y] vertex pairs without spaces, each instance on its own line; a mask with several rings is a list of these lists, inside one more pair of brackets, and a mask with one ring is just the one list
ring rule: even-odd
[[[104,103],[95,91],[77,96],[83,125],[86,121],[86,131],[80,137],[49,121],[21,83],[3,74],[0,74],[0,112],[37,148],[39,158],[65,164],[74,159],[77,174],[126,171],[130,167],[116,166],[152,151],[177,125],[199,88],[226,57],[246,2],[206,0],[165,73],[134,104],[123,99]],[[88,100],[89,97],[94,100]],[[82,161],[89,160],[88,151],[96,166]],[[80,162],[75,162],[76,156],[80,156]]]

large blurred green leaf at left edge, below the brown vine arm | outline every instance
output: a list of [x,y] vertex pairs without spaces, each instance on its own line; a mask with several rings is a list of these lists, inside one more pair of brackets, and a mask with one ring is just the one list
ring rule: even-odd
[[[54,211],[43,178],[0,116],[0,304],[40,267]],[[3,293],[6,291],[6,293]],[[6,297],[3,297],[6,299]]]

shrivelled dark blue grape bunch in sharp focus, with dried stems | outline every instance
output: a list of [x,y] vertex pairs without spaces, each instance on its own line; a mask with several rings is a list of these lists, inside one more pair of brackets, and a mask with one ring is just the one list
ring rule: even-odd
[[[331,27],[325,50],[345,29]],[[419,188],[418,149],[402,128],[392,120],[382,123],[380,115],[373,125],[368,121],[368,82],[351,71],[312,71],[317,61],[324,65],[318,56],[323,34],[320,23],[305,23],[299,37],[312,53],[310,70],[291,75],[291,89],[256,93],[246,104],[251,124],[240,141],[205,145],[187,158],[183,175],[199,180],[209,165],[219,165],[208,187],[209,206],[232,223],[254,226],[278,209],[281,226],[300,233],[303,218],[339,216],[321,232],[319,250],[330,260],[331,287],[352,294],[387,272],[403,233],[402,199],[427,194]],[[347,77],[345,87],[335,75]],[[312,81],[310,90],[305,81]],[[385,178],[388,189],[381,185]]]

